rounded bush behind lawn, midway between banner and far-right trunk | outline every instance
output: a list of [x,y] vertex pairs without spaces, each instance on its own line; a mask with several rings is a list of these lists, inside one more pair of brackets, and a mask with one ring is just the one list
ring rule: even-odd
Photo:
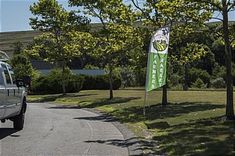
[[210,85],[210,75],[207,71],[197,69],[197,68],[191,68],[189,70],[189,85],[194,84],[198,79],[202,80],[203,84],[206,84],[207,87]]

